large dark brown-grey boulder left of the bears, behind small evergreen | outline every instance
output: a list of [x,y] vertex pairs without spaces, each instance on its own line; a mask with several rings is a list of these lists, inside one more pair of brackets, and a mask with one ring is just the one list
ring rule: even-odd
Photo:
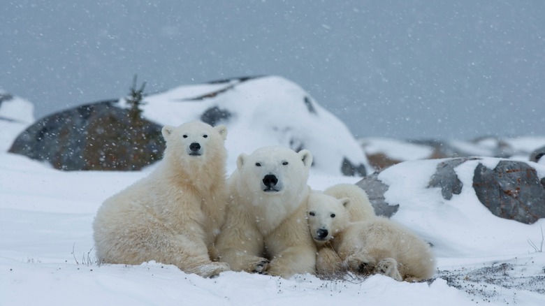
[[134,118],[116,103],[82,105],[45,117],[21,133],[9,152],[61,170],[139,170],[161,159],[162,126]]

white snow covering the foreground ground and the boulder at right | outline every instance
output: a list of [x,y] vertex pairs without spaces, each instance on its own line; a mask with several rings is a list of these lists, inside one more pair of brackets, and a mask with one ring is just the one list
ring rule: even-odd
[[[545,255],[530,245],[541,246],[544,220],[523,225],[488,215],[474,202],[472,189],[464,189],[454,203],[437,203],[439,191],[420,188],[433,167],[415,172],[416,164],[399,168],[397,175],[405,175],[397,179],[386,173],[384,180],[396,186],[388,197],[405,204],[395,219],[428,233],[425,238],[435,244],[436,279],[409,284],[382,275],[321,280],[245,272],[203,279],[160,263],[95,263],[91,224],[96,209],[154,166],[131,173],[61,172],[2,152],[0,305],[544,305]],[[463,168],[458,170],[464,175]],[[358,180],[314,171],[310,184],[324,189]],[[420,191],[405,194],[415,190]],[[458,233],[474,239],[441,243],[442,238],[458,241]]]

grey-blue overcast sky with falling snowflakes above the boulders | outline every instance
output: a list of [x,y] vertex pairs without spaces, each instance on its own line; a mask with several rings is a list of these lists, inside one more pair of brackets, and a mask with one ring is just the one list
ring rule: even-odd
[[282,75],[358,137],[544,135],[545,1],[6,1],[0,88],[36,117]]

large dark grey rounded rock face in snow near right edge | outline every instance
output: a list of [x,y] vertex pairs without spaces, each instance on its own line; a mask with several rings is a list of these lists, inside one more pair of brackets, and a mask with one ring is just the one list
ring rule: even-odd
[[545,186],[537,171],[521,161],[500,161],[494,169],[479,163],[473,188],[497,217],[533,224],[545,218]]

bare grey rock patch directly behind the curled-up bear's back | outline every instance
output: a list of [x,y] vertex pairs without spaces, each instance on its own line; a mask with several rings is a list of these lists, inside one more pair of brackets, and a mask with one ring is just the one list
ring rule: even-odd
[[356,185],[367,193],[371,205],[375,208],[375,214],[389,218],[398,211],[399,204],[391,205],[386,202],[384,193],[388,191],[388,185],[381,182],[378,176],[378,173],[373,173],[368,177],[363,177]]

